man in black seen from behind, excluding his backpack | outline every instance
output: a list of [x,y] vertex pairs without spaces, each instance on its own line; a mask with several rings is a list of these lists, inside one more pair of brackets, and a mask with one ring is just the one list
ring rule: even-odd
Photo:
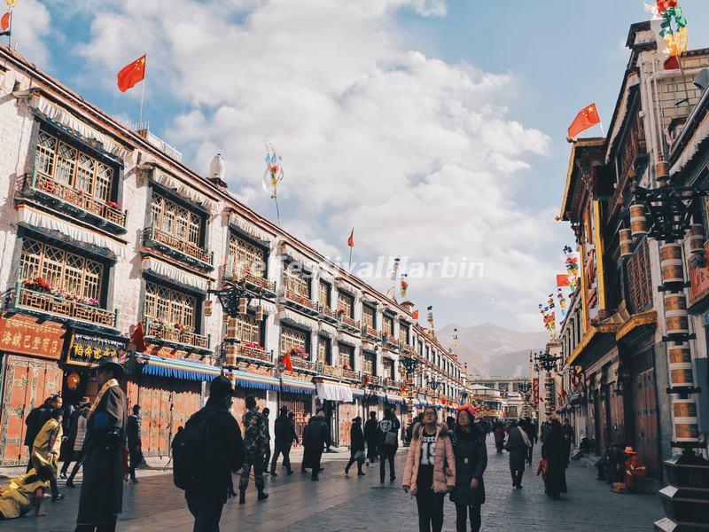
[[183,429],[205,423],[209,436],[206,445],[212,450],[211,459],[205,460],[201,468],[205,486],[184,491],[187,507],[194,516],[195,530],[219,530],[224,503],[230,492],[231,473],[244,464],[241,429],[230,412],[232,394],[229,379],[222,375],[214,377],[209,383],[209,399],[205,407],[192,414]]

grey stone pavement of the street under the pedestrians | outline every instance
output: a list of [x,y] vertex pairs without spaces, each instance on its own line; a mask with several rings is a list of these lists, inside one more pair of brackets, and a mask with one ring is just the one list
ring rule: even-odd
[[[538,461],[539,446],[534,448]],[[269,500],[256,501],[253,485],[246,492],[246,504],[230,500],[222,514],[222,530],[289,532],[337,532],[339,530],[391,531],[417,529],[416,501],[401,490],[401,475],[406,450],[397,456],[395,484],[380,485],[378,465],[367,469],[367,476],[345,477],[347,455],[325,455],[321,481],[311,482],[300,472],[279,475],[267,481]],[[555,502],[544,495],[541,479],[528,469],[524,489],[512,489],[508,455],[495,454],[488,444],[485,473],[487,504],[482,510],[482,530],[507,532],[517,530],[570,530],[573,532],[628,532],[651,530],[662,515],[655,495],[615,495],[608,484],[596,481],[596,470],[574,462],[566,478],[569,493]],[[295,461],[293,462],[295,464]],[[299,455],[300,464],[300,455]],[[296,468],[297,470],[297,468]],[[356,467],[354,468],[356,473]],[[191,531],[192,519],[184,503],[183,492],[176,489],[170,474],[140,472],[140,483],[127,484],[121,531],[170,532]],[[235,479],[235,484],[237,480]],[[46,500],[46,517],[33,514],[18,520],[0,521],[0,532],[67,532],[74,529],[78,489],[62,488],[66,499],[57,503]],[[455,506],[447,502],[444,530],[456,529]]]

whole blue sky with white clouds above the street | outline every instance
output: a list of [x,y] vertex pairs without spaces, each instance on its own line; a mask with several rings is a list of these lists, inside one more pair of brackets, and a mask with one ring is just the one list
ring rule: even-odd
[[[690,47],[709,46],[709,3],[680,4]],[[142,87],[115,76],[147,53],[143,118],[192,168],[222,153],[230,191],[275,220],[269,142],[286,231],[347,262],[354,227],[353,262],[400,256],[436,328],[537,331],[573,245],[554,219],[566,129],[591,102],[611,121],[628,28],[648,18],[643,0],[19,0],[13,33],[129,122]],[[419,278],[415,262],[449,266]]]

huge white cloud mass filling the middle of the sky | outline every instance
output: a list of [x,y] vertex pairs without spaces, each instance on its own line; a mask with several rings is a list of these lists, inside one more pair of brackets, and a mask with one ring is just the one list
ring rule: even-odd
[[240,199],[271,212],[260,185],[268,139],[285,161],[284,227],[324,254],[344,253],[354,226],[361,260],[482,261],[483,279],[417,280],[410,292],[421,306],[435,293],[530,324],[520,303],[535,309],[549,285],[553,260],[541,249],[556,231],[554,213],[510,198],[528,156],[547,153],[549,138],[507,115],[514,74],[402,46],[395,13],[442,17],[444,1],[107,0],[84,8],[91,39],[78,51],[102,74],[148,51],[149,90],[184,104],[168,140],[198,169],[224,153]]

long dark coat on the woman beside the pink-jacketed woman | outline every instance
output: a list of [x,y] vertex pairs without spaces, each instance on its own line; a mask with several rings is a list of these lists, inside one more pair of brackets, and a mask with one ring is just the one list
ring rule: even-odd
[[[482,505],[485,503],[485,481],[482,478],[487,467],[485,432],[479,425],[468,434],[456,426],[453,453],[456,455],[456,488],[450,500],[458,505]],[[472,479],[478,479],[478,488],[471,489]]]

